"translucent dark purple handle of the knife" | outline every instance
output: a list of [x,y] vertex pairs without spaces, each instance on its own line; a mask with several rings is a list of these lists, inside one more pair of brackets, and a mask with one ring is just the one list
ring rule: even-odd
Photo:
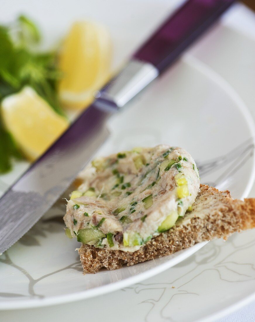
[[134,54],[164,71],[209,28],[234,0],[189,0],[171,15]]

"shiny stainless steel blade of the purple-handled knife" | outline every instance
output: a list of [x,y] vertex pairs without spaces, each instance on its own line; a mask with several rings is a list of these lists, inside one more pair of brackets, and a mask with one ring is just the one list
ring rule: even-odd
[[41,218],[105,142],[110,115],[90,106],[0,199],[0,253]]

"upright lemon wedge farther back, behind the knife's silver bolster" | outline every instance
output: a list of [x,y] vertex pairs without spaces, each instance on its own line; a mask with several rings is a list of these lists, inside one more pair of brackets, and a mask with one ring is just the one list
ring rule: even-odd
[[105,27],[92,22],[73,24],[59,54],[62,105],[71,109],[88,106],[110,77],[111,58],[111,39]]

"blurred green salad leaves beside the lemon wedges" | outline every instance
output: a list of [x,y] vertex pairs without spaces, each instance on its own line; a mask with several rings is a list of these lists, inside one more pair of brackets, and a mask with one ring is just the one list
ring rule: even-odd
[[[32,87],[52,109],[64,115],[57,95],[57,51],[40,52],[41,33],[29,18],[20,15],[14,23],[0,25],[0,104],[24,86]],[[1,115],[1,114],[0,114]],[[11,169],[12,158],[21,158],[0,117],[0,174]]]

